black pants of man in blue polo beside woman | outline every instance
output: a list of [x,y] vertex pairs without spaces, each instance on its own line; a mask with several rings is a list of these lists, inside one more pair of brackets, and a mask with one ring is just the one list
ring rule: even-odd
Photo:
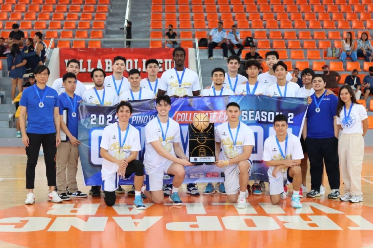
[[308,159],[310,159],[311,190],[319,191],[324,170],[324,162],[330,189],[339,190],[338,139],[313,139],[306,137]]

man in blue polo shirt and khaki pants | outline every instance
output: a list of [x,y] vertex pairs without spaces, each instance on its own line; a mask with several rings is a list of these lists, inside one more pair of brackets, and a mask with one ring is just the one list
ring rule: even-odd
[[[78,108],[82,98],[76,95],[76,76],[68,72],[62,77],[62,85],[65,92],[61,93],[60,98],[60,118],[61,130],[66,134],[66,142],[61,142],[57,148],[57,193],[63,201],[69,201],[70,197],[87,197],[78,190],[76,182],[76,172],[78,171],[79,150],[81,144],[78,137]],[[67,125],[63,121],[64,111],[66,114]],[[68,190],[66,190],[68,187]]]

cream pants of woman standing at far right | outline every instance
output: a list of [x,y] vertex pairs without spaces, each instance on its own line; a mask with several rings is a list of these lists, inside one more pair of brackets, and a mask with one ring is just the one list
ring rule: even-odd
[[361,134],[341,134],[338,143],[339,163],[345,183],[345,193],[362,195],[361,169],[364,158],[364,138]]

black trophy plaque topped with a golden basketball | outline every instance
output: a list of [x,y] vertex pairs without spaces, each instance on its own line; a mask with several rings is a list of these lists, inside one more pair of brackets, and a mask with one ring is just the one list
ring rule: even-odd
[[189,162],[196,165],[215,162],[214,123],[203,113],[198,113],[189,124]]

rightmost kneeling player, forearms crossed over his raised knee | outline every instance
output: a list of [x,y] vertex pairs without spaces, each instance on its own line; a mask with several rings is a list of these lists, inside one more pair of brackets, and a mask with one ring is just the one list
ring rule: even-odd
[[288,134],[288,117],[276,115],[273,129],[276,134],[268,137],[264,142],[263,160],[269,166],[269,195],[272,204],[277,205],[286,198],[283,181],[293,184],[291,206],[300,209],[299,191],[302,183],[301,159],[304,158],[301,142],[294,134]]

